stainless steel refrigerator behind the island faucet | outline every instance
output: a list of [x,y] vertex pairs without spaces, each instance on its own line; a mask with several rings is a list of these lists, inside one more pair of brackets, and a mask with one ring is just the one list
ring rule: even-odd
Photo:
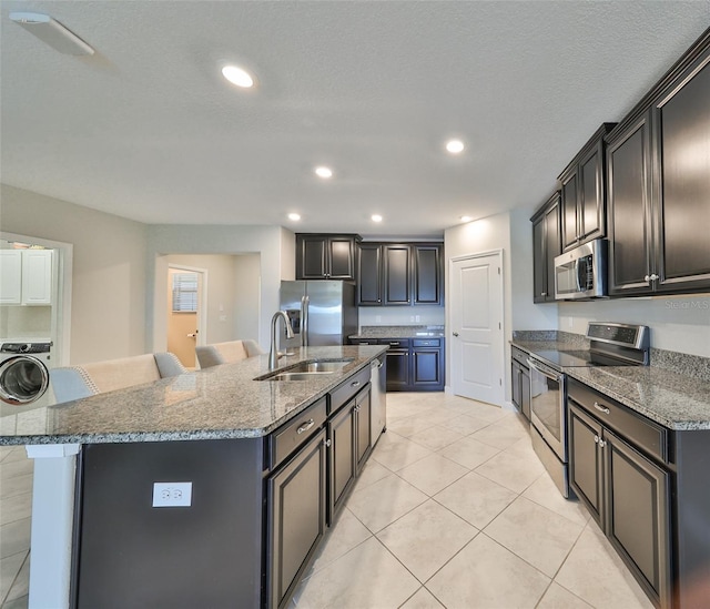
[[281,309],[295,337],[281,335],[281,348],[345,345],[357,333],[355,284],[342,281],[281,282]]

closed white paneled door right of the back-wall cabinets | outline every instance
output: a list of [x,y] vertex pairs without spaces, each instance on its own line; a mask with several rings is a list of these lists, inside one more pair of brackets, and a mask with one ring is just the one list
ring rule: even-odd
[[503,254],[453,260],[449,277],[452,390],[503,406]]

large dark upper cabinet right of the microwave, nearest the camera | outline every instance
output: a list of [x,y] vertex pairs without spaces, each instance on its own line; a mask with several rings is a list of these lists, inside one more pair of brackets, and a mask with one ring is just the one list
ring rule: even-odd
[[609,292],[710,290],[710,30],[607,138]]

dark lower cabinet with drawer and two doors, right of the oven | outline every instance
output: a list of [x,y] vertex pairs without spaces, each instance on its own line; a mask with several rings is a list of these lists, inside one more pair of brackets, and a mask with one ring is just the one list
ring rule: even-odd
[[570,383],[568,397],[571,487],[649,598],[671,607],[671,473],[642,451],[662,430],[612,400],[589,398],[590,390],[576,395],[575,387]]

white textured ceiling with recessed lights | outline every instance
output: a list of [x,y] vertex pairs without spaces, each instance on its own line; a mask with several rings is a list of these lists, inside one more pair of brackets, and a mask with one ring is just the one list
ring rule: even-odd
[[[58,53],[13,10],[97,53]],[[3,0],[0,22],[3,183],[151,224],[414,236],[541,203],[710,1]],[[226,83],[224,61],[258,87]]]

